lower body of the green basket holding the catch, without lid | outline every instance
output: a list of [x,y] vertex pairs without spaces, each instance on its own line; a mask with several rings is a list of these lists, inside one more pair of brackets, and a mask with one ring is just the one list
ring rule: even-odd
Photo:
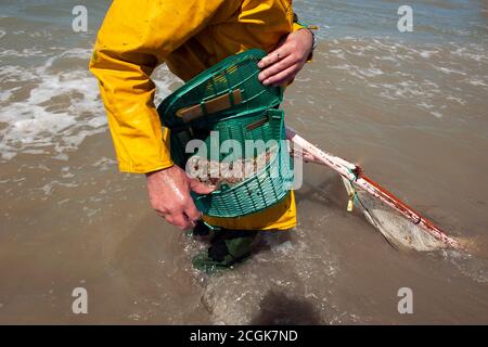
[[[251,130],[249,130],[251,129]],[[196,207],[207,216],[239,217],[264,210],[281,200],[290,192],[294,179],[293,160],[286,145],[284,128],[284,114],[282,111],[270,110],[257,114],[245,115],[219,121],[214,131],[217,131],[218,142],[233,140],[245,147],[245,140],[260,139],[264,143],[275,144],[270,159],[261,170],[246,178],[235,185],[221,185],[219,191],[207,195],[193,195]],[[210,137],[206,139],[206,149],[213,149]],[[215,141],[215,137],[214,137]],[[268,142],[272,141],[272,142]],[[249,158],[261,154],[270,146],[254,149],[249,153],[243,151],[243,157]],[[207,151],[207,158],[211,153]],[[215,153],[215,152],[214,152]],[[237,159],[239,155],[221,154],[219,160]],[[200,155],[198,152],[196,155]]]

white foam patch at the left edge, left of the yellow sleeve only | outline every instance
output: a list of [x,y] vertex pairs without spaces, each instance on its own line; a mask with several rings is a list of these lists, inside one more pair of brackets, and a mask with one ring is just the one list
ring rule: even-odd
[[3,159],[33,149],[44,152],[50,146],[62,153],[76,149],[87,136],[104,130],[104,115],[93,113],[103,110],[97,81],[88,70],[49,73],[56,59],[31,69],[11,66],[0,73],[2,83],[17,78],[20,86],[31,85],[27,97],[14,98],[15,93],[10,92],[10,103],[2,103],[0,121],[7,125],[0,130]]

